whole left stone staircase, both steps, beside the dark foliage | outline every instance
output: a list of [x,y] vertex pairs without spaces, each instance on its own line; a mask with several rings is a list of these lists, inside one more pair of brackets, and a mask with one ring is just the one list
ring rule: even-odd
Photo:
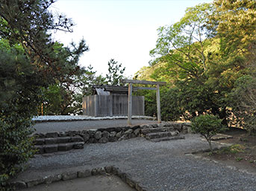
[[53,133],[46,135],[48,136],[36,137],[34,147],[37,149],[37,154],[63,152],[71,149],[84,148],[84,139],[81,136],[57,137]]

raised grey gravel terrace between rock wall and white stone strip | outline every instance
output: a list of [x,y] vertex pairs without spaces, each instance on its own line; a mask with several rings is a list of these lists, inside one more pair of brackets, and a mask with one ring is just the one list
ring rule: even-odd
[[[155,120],[131,120],[133,125],[157,123]],[[127,126],[127,119],[117,120],[75,120],[65,122],[43,122],[36,123],[34,129],[41,132],[66,132],[84,129],[99,129],[116,126]]]

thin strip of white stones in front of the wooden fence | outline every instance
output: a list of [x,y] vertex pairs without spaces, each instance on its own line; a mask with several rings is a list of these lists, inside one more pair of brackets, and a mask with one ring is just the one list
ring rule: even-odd
[[[145,120],[155,120],[155,117],[149,116],[132,116],[132,119],[145,119]],[[117,119],[127,119],[127,116],[113,116],[113,117],[91,117],[87,115],[45,115],[45,116],[35,116],[32,118],[35,122],[37,121],[68,121],[68,120],[117,120]]]

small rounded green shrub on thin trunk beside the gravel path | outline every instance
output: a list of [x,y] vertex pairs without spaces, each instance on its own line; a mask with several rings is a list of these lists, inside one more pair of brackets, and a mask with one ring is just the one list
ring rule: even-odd
[[211,114],[201,114],[198,117],[194,117],[191,129],[193,132],[200,133],[205,137],[209,143],[211,152],[213,151],[211,137],[219,132],[225,131],[225,128],[222,127],[222,120]]

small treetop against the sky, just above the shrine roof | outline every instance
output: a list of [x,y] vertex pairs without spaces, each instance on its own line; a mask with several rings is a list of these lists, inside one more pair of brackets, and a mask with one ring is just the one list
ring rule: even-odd
[[110,59],[107,63],[108,74],[106,80],[109,85],[119,85],[119,80],[122,79],[125,68],[122,68],[122,64],[118,64],[114,59]]

